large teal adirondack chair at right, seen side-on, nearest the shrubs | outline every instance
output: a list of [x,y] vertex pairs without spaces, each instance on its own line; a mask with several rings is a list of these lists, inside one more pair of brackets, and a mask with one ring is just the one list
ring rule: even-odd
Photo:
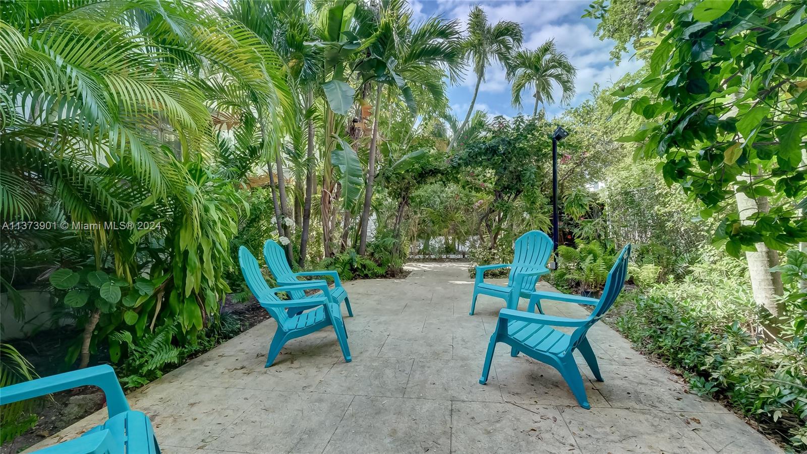
[[[586,388],[583,385],[583,377],[577,368],[575,358],[572,353],[575,348],[583,354],[588,367],[592,369],[597,381],[603,381],[600,375],[600,366],[594,356],[591,344],[586,339],[588,328],[592,327],[597,320],[608,312],[608,309],[617,301],[625,286],[625,277],[628,273],[628,257],[630,256],[630,244],[622,249],[617,257],[617,262],[608,273],[605,287],[600,299],[586,298],[575,295],[559,294],[556,292],[535,292],[529,298],[529,312],[522,310],[502,309],[499,312],[499,322],[495,331],[491,335],[490,344],[487,344],[487,356],[482,369],[482,377],[479,383],[485,384],[487,374],[491,370],[491,360],[495,344],[501,342],[508,344],[512,349],[511,356],[517,356],[519,352],[524,352],[527,356],[539,360],[543,363],[558,369],[564,380],[566,380],[571,392],[575,394],[577,402],[585,409],[590,409],[586,397]],[[567,319],[565,317],[554,317],[545,315],[541,310],[541,299],[553,301],[574,302],[577,304],[587,304],[594,306],[592,314],[585,319]],[[541,310],[541,314],[533,314],[533,307]],[[568,335],[558,331],[553,327],[575,327],[575,331]]]

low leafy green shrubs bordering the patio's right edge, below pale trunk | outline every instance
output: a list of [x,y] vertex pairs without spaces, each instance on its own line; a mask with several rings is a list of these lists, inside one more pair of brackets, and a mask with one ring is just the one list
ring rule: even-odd
[[807,448],[807,339],[758,335],[762,315],[742,273],[723,277],[719,264],[713,271],[698,265],[683,281],[625,294],[617,328],[684,372],[696,394],[725,398],[792,448]]

